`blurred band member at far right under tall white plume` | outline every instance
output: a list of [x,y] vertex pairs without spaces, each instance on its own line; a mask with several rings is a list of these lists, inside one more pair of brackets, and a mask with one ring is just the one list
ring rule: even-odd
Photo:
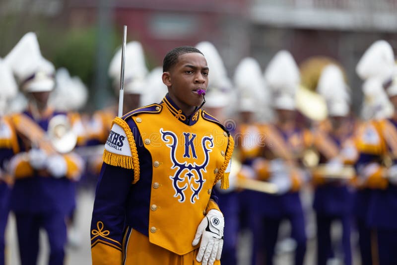
[[[369,119],[357,131],[359,159],[356,163],[358,191],[355,198],[355,217],[359,232],[361,263],[363,265],[390,264],[396,241],[395,184],[391,176],[394,161],[395,133],[393,105],[389,102],[382,83],[392,75],[393,49],[386,41],[372,44],[360,59],[356,72],[365,80],[363,114]],[[390,95],[393,95],[393,89]],[[389,92],[389,91],[388,91]],[[385,159],[388,157],[388,159]],[[385,233],[386,232],[386,233]],[[394,242],[388,244],[387,242]]]

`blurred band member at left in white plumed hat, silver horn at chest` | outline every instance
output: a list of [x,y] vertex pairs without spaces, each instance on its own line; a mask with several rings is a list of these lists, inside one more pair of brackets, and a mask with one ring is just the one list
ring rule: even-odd
[[42,57],[36,35],[25,34],[4,61],[29,99],[27,110],[11,117],[20,149],[9,163],[15,178],[10,205],[16,218],[20,261],[22,265],[37,263],[39,230],[43,228],[50,245],[49,264],[64,264],[65,219],[75,203],[72,182],[78,180],[83,165],[75,154],[58,150],[72,148],[76,139],[71,144],[48,140],[51,124],[60,120],[67,124],[67,117],[47,107],[55,69]]

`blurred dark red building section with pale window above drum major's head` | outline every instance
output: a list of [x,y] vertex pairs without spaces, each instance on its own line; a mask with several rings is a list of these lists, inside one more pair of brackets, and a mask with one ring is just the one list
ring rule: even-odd
[[[68,21],[73,26],[95,23],[101,0],[66,0]],[[112,2],[112,3],[110,3]],[[103,3],[111,21],[128,36],[143,43],[157,65],[170,49],[211,40],[230,51],[241,49],[234,43],[248,0],[114,0]],[[225,51],[227,53],[227,51]]]

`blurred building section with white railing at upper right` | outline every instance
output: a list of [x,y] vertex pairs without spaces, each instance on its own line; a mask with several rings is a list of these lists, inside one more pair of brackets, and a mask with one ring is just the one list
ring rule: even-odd
[[355,66],[378,39],[397,51],[397,0],[253,0],[250,6],[251,55],[263,66],[281,48],[298,64],[327,56],[344,67],[357,111],[361,81]]

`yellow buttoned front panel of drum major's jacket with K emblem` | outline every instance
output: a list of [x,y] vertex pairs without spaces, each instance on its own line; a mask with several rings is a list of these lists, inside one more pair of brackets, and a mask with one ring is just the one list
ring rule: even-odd
[[201,115],[195,125],[185,125],[166,108],[132,119],[153,162],[149,241],[178,255],[190,253],[198,247],[192,241],[225,161],[228,135]]

